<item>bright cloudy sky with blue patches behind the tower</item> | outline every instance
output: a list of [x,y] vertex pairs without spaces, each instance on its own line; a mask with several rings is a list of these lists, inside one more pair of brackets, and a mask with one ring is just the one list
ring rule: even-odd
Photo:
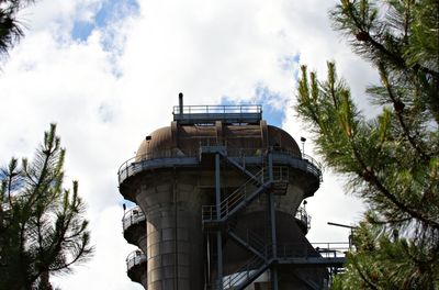
[[[72,289],[143,289],[126,276],[135,249],[122,235],[117,168],[143,138],[170,124],[184,104],[262,104],[263,118],[297,142],[312,135],[293,110],[301,65],[326,75],[335,60],[368,113],[364,88],[374,70],[331,30],[334,0],[40,0],[20,14],[22,38],[0,67],[0,165],[32,157],[49,123],[67,149],[66,187],[79,180],[94,257],[56,277]],[[342,177],[324,169],[307,199],[312,242],[345,242],[361,201]]]

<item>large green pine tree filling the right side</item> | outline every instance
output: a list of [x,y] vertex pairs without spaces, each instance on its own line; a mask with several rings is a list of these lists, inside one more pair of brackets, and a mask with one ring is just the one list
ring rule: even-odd
[[368,207],[333,288],[439,289],[439,1],[342,0],[330,18],[381,77],[368,119],[334,63],[326,80],[302,66],[295,109]]

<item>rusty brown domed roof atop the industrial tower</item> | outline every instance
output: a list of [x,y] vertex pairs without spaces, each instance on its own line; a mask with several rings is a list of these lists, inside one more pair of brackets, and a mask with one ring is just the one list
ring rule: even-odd
[[259,124],[181,125],[154,131],[142,142],[136,160],[166,156],[195,156],[200,145],[227,146],[227,150],[255,150],[273,148],[300,156],[300,147],[294,138],[282,129]]

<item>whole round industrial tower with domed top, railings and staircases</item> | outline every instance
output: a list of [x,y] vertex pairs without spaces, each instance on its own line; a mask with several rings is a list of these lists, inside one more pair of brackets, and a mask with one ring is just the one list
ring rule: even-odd
[[[342,257],[305,235],[319,166],[260,105],[179,105],[119,170],[127,275],[148,290],[325,289]],[[335,253],[335,252],[334,252]]]

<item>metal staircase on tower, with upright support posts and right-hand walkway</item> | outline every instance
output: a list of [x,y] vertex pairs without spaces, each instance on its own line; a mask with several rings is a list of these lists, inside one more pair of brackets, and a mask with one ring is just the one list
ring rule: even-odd
[[[275,272],[273,265],[308,265],[318,267],[340,268],[345,261],[341,257],[322,257],[308,244],[279,245],[275,238],[275,209],[274,196],[286,193],[289,186],[289,168],[286,166],[273,166],[271,153],[261,158],[260,164],[248,165],[245,158],[227,155],[227,147],[214,144],[202,146],[201,156],[212,160],[215,155],[215,194],[216,203],[202,207],[202,224],[206,233],[216,232],[216,257],[217,278],[211,290],[243,290],[254,282],[260,275],[270,268]],[[210,155],[210,156],[209,156]],[[245,181],[226,197],[221,194],[219,163],[225,161],[243,175]],[[239,161],[240,160],[240,161]],[[235,232],[237,214],[254,202],[261,194],[267,194],[270,213],[270,238],[266,242],[256,233],[247,231],[245,237]],[[233,270],[232,275],[223,277],[222,247],[223,234],[226,234],[236,245],[243,247],[250,258]],[[221,268],[221,269],[219,269]],[[274,285],[277,283],[277,274]],[[273,281],[273,280],[272,280]],[[311,286],[309,286],[311,287]],[[314,286],[312,288],[315,288]]]

